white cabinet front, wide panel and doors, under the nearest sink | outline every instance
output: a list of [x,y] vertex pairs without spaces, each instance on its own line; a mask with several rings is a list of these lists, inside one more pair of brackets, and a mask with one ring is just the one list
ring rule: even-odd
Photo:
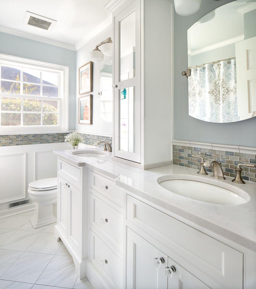
[[[164,280],[167,284],[164,268],[171,266],[176,272],[168,278],[168,286],[174,286],[170,288],[180,288],[179,284],[183,284],[182,288],[243,288],[242,252],[129,194],[126,207],[127,288],[141,288],[143,271],[144,276],[149,272],[145,277],[152,279],[149,285],[155,284],[148,288],[165,288],[159,284]],[[163,258],[162,269],[154,267],[155,258]],[[163,280],[159,276],[164,276]],[[190,280],[197,285],[192,287]]]

